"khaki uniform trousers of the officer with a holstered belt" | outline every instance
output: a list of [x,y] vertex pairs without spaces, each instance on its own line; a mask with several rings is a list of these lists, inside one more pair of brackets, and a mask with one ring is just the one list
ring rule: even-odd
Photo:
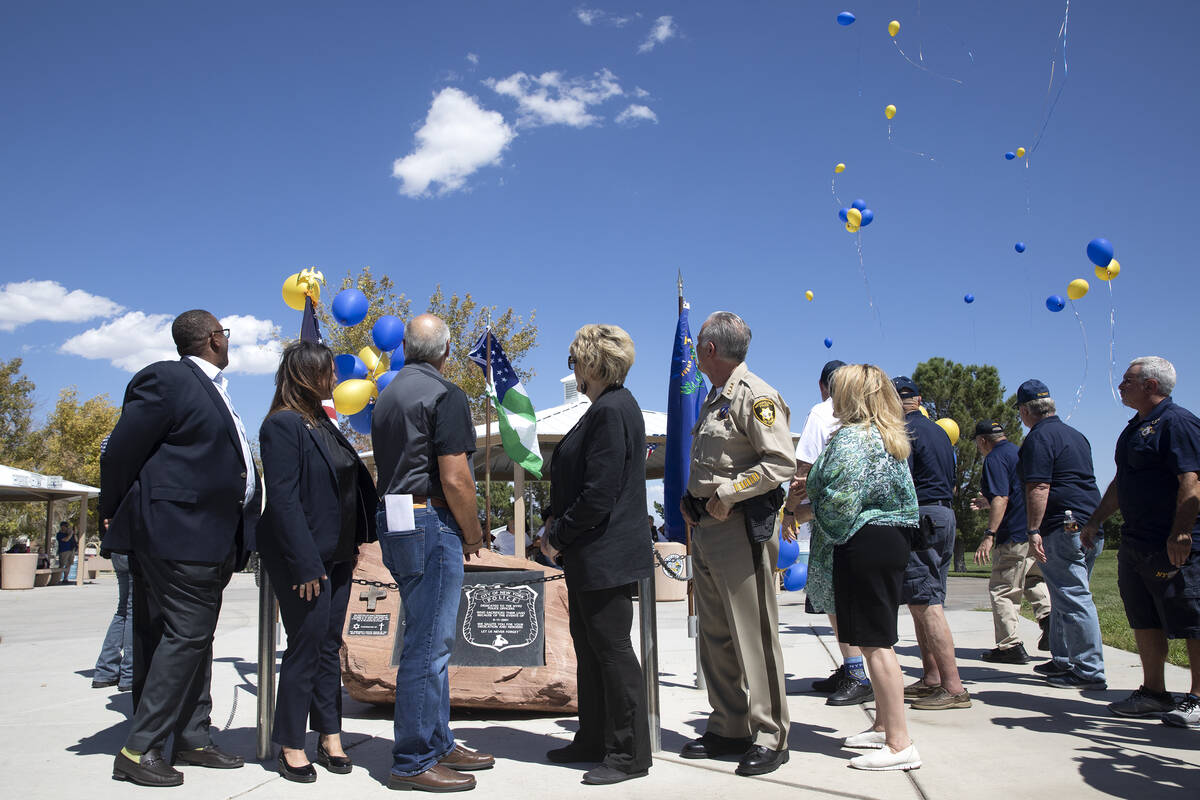
[[708,682],[708,733],[787,747],[787,693],[779,646],[779,540],[751,545],[742,515],[706,517],[692,533],[700,662]]

